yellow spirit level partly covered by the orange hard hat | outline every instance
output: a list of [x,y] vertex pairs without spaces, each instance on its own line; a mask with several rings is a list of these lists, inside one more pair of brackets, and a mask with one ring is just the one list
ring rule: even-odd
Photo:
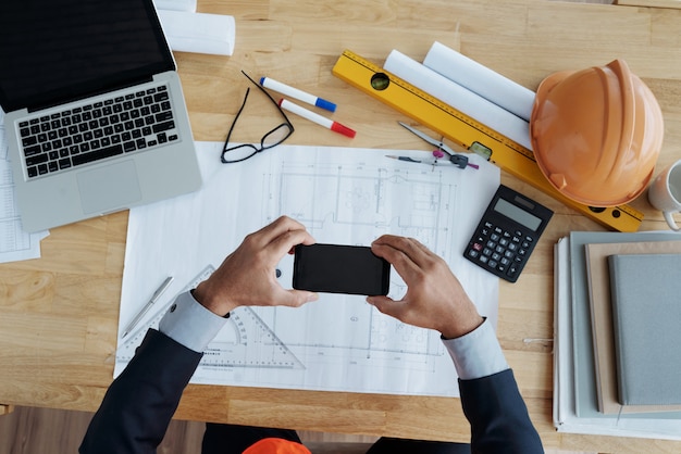
[[502,169],[583,215],[615,230],[639,230],[643,213],[629,205],[593,207],[566,198],[544,177],[531,150],[349,50],[343,52],[332,73],[466,150],[483,155]]

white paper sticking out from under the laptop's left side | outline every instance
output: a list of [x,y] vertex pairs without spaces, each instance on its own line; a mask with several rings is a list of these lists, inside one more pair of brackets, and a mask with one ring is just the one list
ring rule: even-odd
[[8,159],[4,112],[0,110],[0,263],[40,256],[40,240],[49,232],[28,234],[22,226],[14,194],[12,165]]

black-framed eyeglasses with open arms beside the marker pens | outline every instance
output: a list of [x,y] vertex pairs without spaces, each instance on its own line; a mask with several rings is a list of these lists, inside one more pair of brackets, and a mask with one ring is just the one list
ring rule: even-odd
[[257,84],[253,79],[251,79],[248,76],[248,74],[246,74],[243,71],[242,71],[242,74],[244,74],[244,76],[246,76],[248,80],[250,80],[256,87],[258,87],[258,89],[260,89],[260,91],[262,91],[270,99],[270,101],[272,101],[272,103],[276,106],[276,109],[280,111],[280,113],[284,117],[284,123],[276,126],[274,129],[270,130],[264,136],[262,136],[262,139],[260,139],[259,147],[256,144],[251,144],[251,143],[244,143],[244,144],[230,147],[230,138],[232,137],[232,131],[234,130],[234,127],[236,126],[236,121],[239,118],[242,111],[246,106],[246,100],[248,99],[248,93],[250,91],[250,88],[247,88],[246,94],[244,96],[244,102],[242,103],[242,106],[236,113],[236,116],[234,117],[234,122],[232,122],[232,126],[230,126],[227,138],[225,139],[224,146],[222,147],[222,155],[220,156],[220,160],[224,164],[232,164],[232,163],[246,161],[247,159],[255,156],[261,151],[278,146],[284,140],[288,139],[288,137],[290,137],[292,134],[294,134],[294,125],[290,124],[290,121],[288,119],[288,117],[286,116],[282,108],[280,108],[278,103],[274,100],[274,98],[272,98],[264,88],[262,88],[259,84]]

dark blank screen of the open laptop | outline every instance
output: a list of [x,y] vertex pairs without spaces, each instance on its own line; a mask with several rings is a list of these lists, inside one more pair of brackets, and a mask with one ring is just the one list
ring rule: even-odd
[[152,0],[0,1],[0,105],[60,104],[174,70]]

